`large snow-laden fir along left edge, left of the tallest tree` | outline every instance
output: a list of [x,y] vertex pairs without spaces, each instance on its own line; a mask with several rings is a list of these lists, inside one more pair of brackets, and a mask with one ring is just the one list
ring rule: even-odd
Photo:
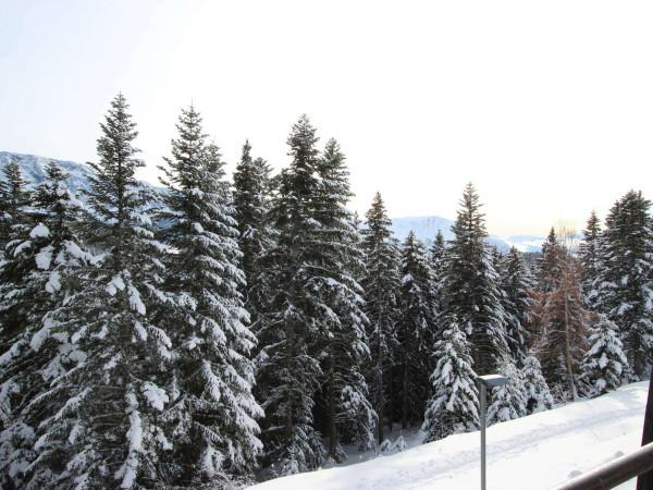
[[9,479],[0,483],[8,488],[36,487],[41,481],[39,475],[32,481],[24,475],[36,457],[38,426],[46,414],[52,415],[53,401],[37,399],[65,366],[83,358],[67,339],[51,336],[51,322],[44,321],[73,294],[74,269],[93,260],[74,231],[82,204],[65,185],[69,175],[54,163],[45,173],[0,268],[1,322],[8,316],[16,321],[9,348],[0,356],[0,418],[7,425],[0,434],[0,474]]

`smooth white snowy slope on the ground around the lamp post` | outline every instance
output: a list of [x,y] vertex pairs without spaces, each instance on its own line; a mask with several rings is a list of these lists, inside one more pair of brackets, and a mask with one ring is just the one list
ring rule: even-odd
[[[641,443],[648,382],[488,428],[488,489],[554,488]],[[433,489],[480,487],[479,432],[403,453],[278,478],[252,490]],[[350,460],[357,456],[353,454]],[[631,480],[618,487],[634,489]]]

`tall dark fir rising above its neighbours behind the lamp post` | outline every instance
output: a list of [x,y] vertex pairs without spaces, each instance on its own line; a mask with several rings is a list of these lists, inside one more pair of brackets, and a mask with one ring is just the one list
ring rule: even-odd
[[493,371],[507,355],[504,292],[488,236],[478,194],[465,187],[460,209],[452,226],[454,238],[447,249],[443,313],[455,316],[472,345],[473,368],[479,375]]

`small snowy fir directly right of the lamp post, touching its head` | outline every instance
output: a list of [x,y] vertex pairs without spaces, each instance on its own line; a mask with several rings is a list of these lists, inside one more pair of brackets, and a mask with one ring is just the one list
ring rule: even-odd
[[488,424],[513,420],[527,414],[526,388],[515,364],[504,359],[497,367],[498,372],[508,378],[504,385],[492,390],[488,407]]

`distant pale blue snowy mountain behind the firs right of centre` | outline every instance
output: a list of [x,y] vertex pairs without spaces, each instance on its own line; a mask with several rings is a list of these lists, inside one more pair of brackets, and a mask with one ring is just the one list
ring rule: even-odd
[[[439,216],[394,218],[392,220],[392,230],[395,237],[399,241],[404,241],[412,230],[419,240],[430,244],[438,234],[438,230],[442,231],[444,240],[452,240],[454,237],[451,230],[453,224],[452,220]],[[510,247],[516,247],[520,252],[540,252],[544,237],[533,235],[490,235],[486,242],[503,253],[508,252]]]

